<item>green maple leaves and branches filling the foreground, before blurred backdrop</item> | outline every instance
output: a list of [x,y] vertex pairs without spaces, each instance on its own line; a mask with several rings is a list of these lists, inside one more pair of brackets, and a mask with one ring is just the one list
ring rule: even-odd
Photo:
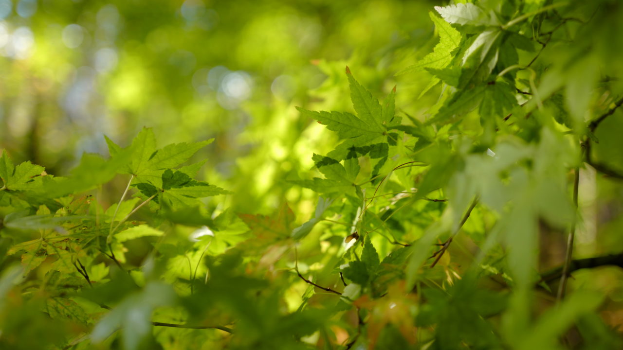
[[[623,265],[621,249],[573,250],[580,178],[623,179],[623,45],[607,36],[623,7],[430,10],[437,43],[399,72],[430,80],[406,98],[438,94],[422,115],[402,110],[400,86],[379,102],[349,67],[352,110],[297,108],[338,140],[283,179],[314,193],[311,217],[285,199],[209,210],[246,195],[196,179],[206,161],[188,162],[212,139],[106,137],[110,156],[85,153],[67,177],[4,150],[0,347],[621,349],[601,312],[620,298],[569,275]],[[102,207],[115,177],[125,191]],[[548,271],[545,234],[568,237]]]

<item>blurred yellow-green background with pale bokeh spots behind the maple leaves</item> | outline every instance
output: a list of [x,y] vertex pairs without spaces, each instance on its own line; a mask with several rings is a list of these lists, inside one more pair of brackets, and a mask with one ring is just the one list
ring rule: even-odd
[[335,136],[294,106],[352,110],[346,64],[373,93],[399,85],[411,113],[430,105],[410,97],[426,73],[393,76],[435,44],[434,4],[0,0],[0,146],[63,175],[83,152],[107,154],[103,135],[124,145],[149,126],[160,144],[215,137],[196,155],[209,159],[202,176],[248,194],[227,207],[299,202],[312,192],[282,179],[307,173]]

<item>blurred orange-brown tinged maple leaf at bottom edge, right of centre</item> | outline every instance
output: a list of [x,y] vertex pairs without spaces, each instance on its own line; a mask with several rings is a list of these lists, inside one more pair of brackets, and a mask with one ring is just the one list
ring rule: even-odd
[[374,349],[381,331],[388,323],[400,331],[410,344],[416,343],[416,328],[412,311],[417,307],[417,297],[406,292],[405,281],[398,281],[389,286],[383,298],[371,299],[361,296],[353,305],[369,311],[368,349]]

